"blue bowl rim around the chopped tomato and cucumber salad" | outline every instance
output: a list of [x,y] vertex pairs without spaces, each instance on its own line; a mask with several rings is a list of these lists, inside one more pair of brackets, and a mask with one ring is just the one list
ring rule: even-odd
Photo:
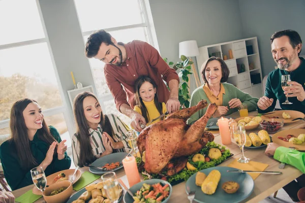
[[[149,180],[146,180],[146,181],[142,181],[142,182],[137,183],[134,186],[132,186],[129,190],[134,194],[138,190],[141,189],[143,183],[146,183],[146,184],[149,184],[149,185],[154,185],[156,183],[161,183],[163,185],[168,184],[169,185],[169,196],[164,201],[162,201],[161,203],[167,202],[168,199],[170,198],[170,195],[172,193],[173,188],[172,188],[172,186],[169,182],[161,180],[161,179],[149,179]],[[132,196],[130,196],[130,194],[127,191],[125,192],[123,199],[124,199],[125,203],[133,203],[134,202],[134,199],[132,198]]]

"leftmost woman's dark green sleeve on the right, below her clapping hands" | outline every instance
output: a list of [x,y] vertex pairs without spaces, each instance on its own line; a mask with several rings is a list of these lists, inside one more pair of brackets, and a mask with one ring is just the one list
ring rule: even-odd
[[[49,126],[49,129],[55,140],[58,143],[62,142],[62,139],[60,138],[60,134],[57,131],[57,129],[53,126]],[[65,152],[65,158],[63,158],[62,160],[58,160],[58,158],[56,157],[53,162],[54,171],[63,171],[69,169],[70,166],[71,166],[71,158],[68,156],[67,152]]]

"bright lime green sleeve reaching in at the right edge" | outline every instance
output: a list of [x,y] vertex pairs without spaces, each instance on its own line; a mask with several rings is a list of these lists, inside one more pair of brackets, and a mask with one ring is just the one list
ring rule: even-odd
[[305,174],[305,153],[286,147],[278,147],[274,159],[296,167]]

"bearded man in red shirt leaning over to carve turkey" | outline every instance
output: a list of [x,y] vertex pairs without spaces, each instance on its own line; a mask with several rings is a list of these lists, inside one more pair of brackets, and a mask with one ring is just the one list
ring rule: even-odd
[[[142,41],[127,44],[117,43],[105,30],[95,31],[85,45],[85,55],[106,63],[106,83],[114,97],[117,110],[132,119],[131,126],[141,131],[140,124],[146,124],[142,115],[133,110],[135,81],[139,76],[148,76],[157,84],[160,102],[166,103],[169,113],[179,109],[179,77],[151,45]],[[169,86],[166,87],[164,81]]]

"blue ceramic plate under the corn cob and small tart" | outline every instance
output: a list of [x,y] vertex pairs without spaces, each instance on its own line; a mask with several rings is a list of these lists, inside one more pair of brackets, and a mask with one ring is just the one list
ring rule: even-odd
[[[227,170],[236,170],[236,168],[226,167],[226,166],[216,166],[211,168],[206,168],[200,172],[208,175],[212,170],[218,170],[221,173],[221,178],[218,183],[216,192],[214,194],[208,195],[201,191],[201,187],[195,184],[196,174],[192,175],[186,183],[186,191],[196,191],[195,199],[199,203],[205,202],[217,202],[217,203],[235,203],[246,199],[254,189],[254,181],[251,176],[247,173],[230,173]],[[227,181],[234,181],[239,184],[239,189],[233,194],[228,194],[222,189],[223,183]],[[187,189],[189,187],[189,190]]]

